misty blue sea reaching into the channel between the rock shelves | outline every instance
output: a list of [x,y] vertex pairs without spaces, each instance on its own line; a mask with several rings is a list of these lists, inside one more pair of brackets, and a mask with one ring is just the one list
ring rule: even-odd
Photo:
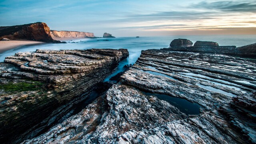
[[[140,38],[134,37],[117,37],[117,38],[81,38],[76,40],[62,40],[68,42],[66,44],[36,44],[21,46],[12,50],[8,50],[0,54],[0,62],[4,61],[6,56],[12,56],[17,52],[34,52],[36,49],[48,50],[85,50],[90,48],[127,48],[129,51],[129,58],[120,62],[116,72],[106,78],[124,70],[124,65],[134,64],[140,56],[141,50],[168,48],[172,40],[176,38],[186,38],[195,43],[200,41],[213,41],[218,42],[220,46],[244,46],[256,42],[256,35],[207,35],[207,36],[141,36]],[[108,40],[108,41],[104,41]],[[78,43],[72,43],[78,42]]]

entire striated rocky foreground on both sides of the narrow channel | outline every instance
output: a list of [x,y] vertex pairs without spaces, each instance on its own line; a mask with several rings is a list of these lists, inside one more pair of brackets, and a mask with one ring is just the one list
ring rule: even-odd
[[[170,48],[142,50],[133,66],[113,77],[120,76],[113,85],[101,81],[128,56],[126,49],[37,50],[6,57],[1,84],[25,82],[34,90],[1,91],[1,138],[12,132],[12,142],[22,144],[256,143],[255,44],[196,43],[178,39]],[[54,123],[97,84],[106,91],[78,114]],[[14,130],[21,126],[28,130]],[[18,133],[23,135],[15,137]]]

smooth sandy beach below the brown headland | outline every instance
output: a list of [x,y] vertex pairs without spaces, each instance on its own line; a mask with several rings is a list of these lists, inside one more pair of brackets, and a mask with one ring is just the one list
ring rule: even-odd
[[10,41],[0,41],[0,53],[7,50],[17,48],[20,46],[30,45],[30,44],[42,44],[45,42],[37,42],[33,40],[10,40]]

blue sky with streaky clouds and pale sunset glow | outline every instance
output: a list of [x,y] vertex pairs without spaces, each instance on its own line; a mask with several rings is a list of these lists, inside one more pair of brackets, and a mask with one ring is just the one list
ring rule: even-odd
[[256,0],[0,0],[0,26],[103,36],[256,34]]

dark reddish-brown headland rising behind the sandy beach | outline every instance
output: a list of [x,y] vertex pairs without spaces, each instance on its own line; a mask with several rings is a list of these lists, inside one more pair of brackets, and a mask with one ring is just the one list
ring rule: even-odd
[[1,26],[0,40],[8,38],[10,40],[27,39],[42,42],[60,43],[53,40],[50,35],[50,28],[44,22],[36,22],[32,24],[23,24],[17,26]]

